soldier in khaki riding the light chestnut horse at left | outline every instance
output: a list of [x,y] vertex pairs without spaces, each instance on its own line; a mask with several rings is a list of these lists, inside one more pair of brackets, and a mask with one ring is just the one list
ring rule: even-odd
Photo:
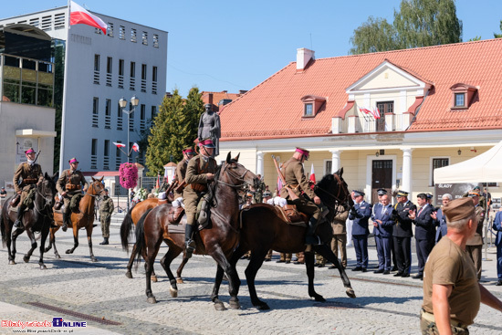
[[[63,232],[67,231],[68,222],[71,216],[71,213],[69,213],[69,203],[71,201],[71,197],[75,194],[81,193],[82,188],[83,191],[86,192],[89,186],[84,175],[77,170],[77,159],[74,157],[68,162],[70,168],[61,173],[58,182],[56,183],[56,189],[62,196],[63,202],[65,203],[65,208],[63,209]],[[59,199],[59,201],[61,200]]]

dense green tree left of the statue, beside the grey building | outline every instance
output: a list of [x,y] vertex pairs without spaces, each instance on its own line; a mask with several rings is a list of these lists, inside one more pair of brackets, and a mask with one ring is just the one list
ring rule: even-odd
[[157,175],[172,158],[174,162],[183,158],[183,148],[193,145],[197,137],[203,111],[204,104],[197,88],[190,89],[186,100],[182,99],[178,89],[173,90],[172,98],[164,97],[153,120],[152,135],[148,137],[147,174]]

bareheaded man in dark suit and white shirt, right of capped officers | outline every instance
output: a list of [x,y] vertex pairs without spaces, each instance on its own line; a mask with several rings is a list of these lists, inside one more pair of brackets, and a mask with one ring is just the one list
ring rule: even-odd
[[414,211],[409,215],[415,225],[415,246],[416,257],[418,258],[418,273],[413,276],[413,279],[424,279],[424,267],[427,257],[431,253],[434,246],[435,226],[433,214],[433,206],[429,204],[427,194],[418,194],[416,201],[420,206],[418,212]]

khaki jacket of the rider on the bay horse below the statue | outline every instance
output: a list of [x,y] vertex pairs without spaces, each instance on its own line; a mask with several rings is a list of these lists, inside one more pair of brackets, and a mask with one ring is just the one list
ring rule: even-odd
[[201,192],[194,190],[191,185],[207,185],[207,176],[205,173],[215,173],[217,166],[218,164],[213,157],[207,157],[207,161],[204,160],[202,154],[193,157],[186,166],[184,180],[187,185],[183,190],[183,199],[198,198]]

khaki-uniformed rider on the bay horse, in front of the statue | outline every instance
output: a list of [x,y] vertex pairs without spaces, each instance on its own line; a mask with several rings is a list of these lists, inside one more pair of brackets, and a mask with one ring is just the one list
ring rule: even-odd
[[218,164],[213,158],[214,144],[211,139],[199,141],[201,153],[188,162],[184,180],[187,186],[183,190],[183,203],[186,213],[186,226],[184,240],[186,244],[186,257],[190,258],[195,250],[193,231],[196,228],[195,215],[197,204],[207,192],[207,183],[214,179],[214,172]]

